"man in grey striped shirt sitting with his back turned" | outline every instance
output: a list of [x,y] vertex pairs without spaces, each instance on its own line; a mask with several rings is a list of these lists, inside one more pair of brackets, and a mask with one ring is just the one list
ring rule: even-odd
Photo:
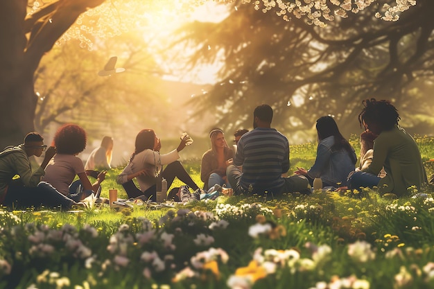
[[289,169],[289,143],[283,134],[271,128],[272,114],[270,105],[255,108],[254,130],[243,134],[233,162],[227,167],[229,184],[236,194],[309,194],[306,177],[282,177]]

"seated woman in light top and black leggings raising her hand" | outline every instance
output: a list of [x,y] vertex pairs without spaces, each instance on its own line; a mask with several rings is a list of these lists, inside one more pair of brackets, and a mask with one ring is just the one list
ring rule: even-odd
[[[135,149],[128,161],[128,165],[118,176],[117,182],[122,184],[128,198],[138,198],[144,196],[146,199],[156,200],[157,177],[164,177],[169,188],[173,179],[177,177],[181,182],[196,191],[198,185],[191,179],[189,173],[182,166],[178,154],[186,146],[188,138],[181,139],[180,144],[175,150],[167,154],[160,154],[162,145],[154,130],[141,130],[136,137]],[[162,170],[162,167],[166,168]],[[137,179],[139,188],[132,179]]]

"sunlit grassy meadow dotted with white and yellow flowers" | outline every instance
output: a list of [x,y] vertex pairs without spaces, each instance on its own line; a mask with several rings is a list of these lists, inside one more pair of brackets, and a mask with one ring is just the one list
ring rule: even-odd
[[[427,175],[433,138],[415,137]],[[351,145],[358,153],[356,137]],[[290,147],[290,172],[316,143]],[[184,161],[200,182],[200,161]],[[110,170],[102,196],[118,189]],[[179,186],[176,182],[173,186]],[[220,196],[173,208],[0,209],[1,288],[434,288],[434,188]]]

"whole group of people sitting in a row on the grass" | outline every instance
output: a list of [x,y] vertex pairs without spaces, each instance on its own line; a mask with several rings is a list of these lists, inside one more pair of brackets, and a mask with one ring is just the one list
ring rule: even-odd
[[[157,184],[164,177],[167,186],[175,177],[191,188],[198,200],[210,191],[234,195],[267,195],[284,193],[309,195],[314,179],[322,188],[335,191],[378,188],[379,193],[408,195],[408,188],[420,188],[427,182],[422,158],[414,139],[398,124],[397,109],[387,100],[367,99],[358,121],[361,134],[360,165],[356,153],[340,134],[331,116],[316,121],[318,148],[315,163],[306,170],[290,168],[288,139],[271,128],[273,111],[259,105],[253,112],[253,130],[238,130],[234,146],[228,146],[223,130],[209,132],[211,148],[202,155],[200,188],[178,161],[180,152],[189,144],[181,139],[177,148],[160,153],[161,142],[154,130],[141,130],[135,139],[134,152],[127,166],[117,177],[128,198],[156,200]],[[0,152],[0,204],[10,208],[84,206],[89,195],[97,198],[101,182],[110,169],[113,140],[105,137],[86,164],[77,157],[86,146],[86,133],[78,125],[64,125],[56,132],[53,146],[47,148],[40,134],[31,132],[24,143]],[[37,170],[28,157],[45,157]],[[104,168],[101,172],[95,168]],[[96,181],[92,184],[89,175]],[[19,177],[17,177],[19,176]],[[74,182],[73,180],[78,179]],[[136,182],[134,182],[134,179]],[[138,184],[139,186],[137,187]],[[185,188],[184,188],[185,191]],[[169,198],[179,195],[169,195]]]

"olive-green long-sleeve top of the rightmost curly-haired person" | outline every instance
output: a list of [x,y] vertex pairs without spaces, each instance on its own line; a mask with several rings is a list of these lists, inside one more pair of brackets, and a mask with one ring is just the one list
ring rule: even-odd
[[374,141],[374,156],[366,173],[378,175],[384,167],[387,175],[379,182],[379,192],[407,195],[410,186],[421,187],[426,182],[417,143],[403,128],[381,132]]

